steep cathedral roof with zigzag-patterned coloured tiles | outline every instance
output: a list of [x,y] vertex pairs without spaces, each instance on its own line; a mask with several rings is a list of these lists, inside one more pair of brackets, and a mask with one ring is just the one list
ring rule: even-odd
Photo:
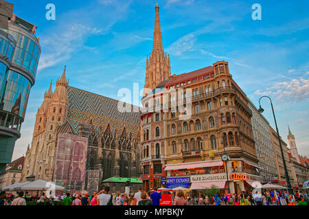
[[[106,96],[100,96],[85,90],[68,86],[67,96],[69,99],[69,111],[67,118],[69,125],[76,134],[80,122],[93,123],[96,131],[100,127],[106,127],[109,123],[111,128],[137,132],[141,123],[140,112],[119,112],[117,105],[122,103]],[[133,105],[130,105],[133,109]],[[136,107],[136,106],[134,106]]]

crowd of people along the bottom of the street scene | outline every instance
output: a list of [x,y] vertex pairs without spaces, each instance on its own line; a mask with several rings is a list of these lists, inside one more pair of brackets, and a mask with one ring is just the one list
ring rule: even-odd
[[[17,196],[12,193],[0,193],[0,205],[27,205],[27,202],[36,202],[38,205],[160,205],[162,197],[155,188],[151,193],[138,188],[135,194],[119,194],[115,197],[110,193],[108,186],[100,192],[62,193],[55,197],[46,194],[30,196],[19,192]],[[266,192],[240,192],[238,194],[214,194],[214,196],[186,197],[183,190],[177,190],[172,205],[308,205],[307,192],[288,194],[286,191],[266,190]]]

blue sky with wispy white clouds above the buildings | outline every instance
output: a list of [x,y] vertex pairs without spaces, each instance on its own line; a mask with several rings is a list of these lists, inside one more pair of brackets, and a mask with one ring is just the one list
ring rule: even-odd
[[[32,140],[35,115],[51,79],[67,66],[69,85],[119,99],[120,88],[144,87],[146,55],[152,49],[156,1],[16,0],[14,14],[38,26],[42,47],[16,159]],[[47,21],[47,3],[56,21]],[[229,62],[230,73],[258,106],[262,94],[273,99],[279,133],[288,125],[301,155],[309,156],[309,1],[167,0],[160,7],[163,47],[172,74]],[[253,21],[253,3],[262,20]],[[275,128],[271,105],[264,116]]]

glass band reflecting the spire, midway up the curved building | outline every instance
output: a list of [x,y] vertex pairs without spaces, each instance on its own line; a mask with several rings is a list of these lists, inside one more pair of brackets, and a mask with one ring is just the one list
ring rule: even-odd
[[[0,64],[0,70],[3,70],[3,64]],[[0,73],[1,83],[1,99],[0,110],[12,112],[21,117],[25,116],[27,101],[30,94],[31,83],[23,75],[15,73],[12,70],[7,72],[3,77]]]

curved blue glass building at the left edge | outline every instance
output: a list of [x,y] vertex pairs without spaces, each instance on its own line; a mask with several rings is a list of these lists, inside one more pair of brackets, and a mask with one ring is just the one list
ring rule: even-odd
[[34,86],[41,47],[36,26],[12,14],[0,28],[0,172],[10,164],[21,137],[30,89]]

